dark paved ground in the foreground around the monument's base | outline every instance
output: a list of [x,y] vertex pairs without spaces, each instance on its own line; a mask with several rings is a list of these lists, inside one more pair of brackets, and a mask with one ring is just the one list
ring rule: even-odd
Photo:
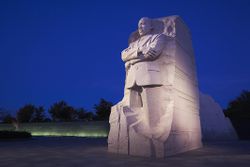
[[150,159],[107,153],[104,138],[35,137],[0,141],[0,167],[250,167],[250,141],[205,143],[198,150]]

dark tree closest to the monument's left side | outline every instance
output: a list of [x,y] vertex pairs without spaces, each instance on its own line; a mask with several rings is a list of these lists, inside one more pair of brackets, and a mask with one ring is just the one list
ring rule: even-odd
[[101,98],[99,104],[94,105],[97,120],[108,120],[112,106],[112,102],[106,101],[105,99]]

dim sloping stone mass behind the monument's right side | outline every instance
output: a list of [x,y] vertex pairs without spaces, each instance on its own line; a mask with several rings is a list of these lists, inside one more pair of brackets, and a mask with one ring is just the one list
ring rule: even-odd
[[237,140],[237,134],[228,118],[214,99],[200,92],[202,140]]

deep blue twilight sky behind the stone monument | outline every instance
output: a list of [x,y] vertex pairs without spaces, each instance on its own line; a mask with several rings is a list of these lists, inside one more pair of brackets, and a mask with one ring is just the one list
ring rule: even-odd
[[118,102],[129,34],[143,16],[169,15],[180,15],[192,32],[201,91],[226,107],[250,89],[248,0],[3,0],[0,107]]

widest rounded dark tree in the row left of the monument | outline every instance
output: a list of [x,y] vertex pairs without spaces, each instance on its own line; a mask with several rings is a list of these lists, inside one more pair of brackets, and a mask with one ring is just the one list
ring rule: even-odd
[[53,121],[72,121],[76,118],[75,109],[63,100],[54,103],[49,109],[49,114]]

